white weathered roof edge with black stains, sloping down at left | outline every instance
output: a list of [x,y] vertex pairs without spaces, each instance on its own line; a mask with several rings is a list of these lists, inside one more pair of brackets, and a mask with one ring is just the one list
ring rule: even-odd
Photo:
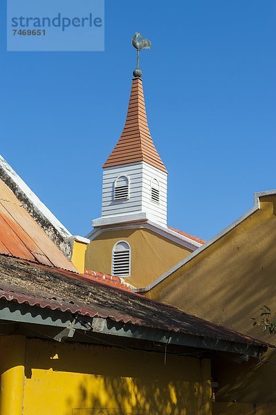
[[55,245],[62,250],[64,255],[71,259],[72,234],[50,212],[42,201],[30,190],[30,187],[19,177],[8,162],[0,155],[0,178],[6,183],[24,208],[35,219]]

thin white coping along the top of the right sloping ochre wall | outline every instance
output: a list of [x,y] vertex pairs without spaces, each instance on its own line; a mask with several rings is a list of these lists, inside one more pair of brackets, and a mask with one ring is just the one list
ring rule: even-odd
[[144,288],[134,288],[133,292],[134,293],[146,293],[147,291],[151,290],[152,288],[154,288],[155,286],[160,284],[160,282],[163,282],[164,279],[169,277],[169,275],[172,275],[172,273],[174,273],[176,270],[178,270],[178,268],[181,268],[181,266],[187,264],[187,262],[191,261],[194,257],[196,257],[196,255],[199,255],[203,250],[207,249],[208,246],[212,245],[214,242],[221,239],[221,237],[223,237],[225,234],[230,232],[230,230],[236,228],[236,226],[239,225],[239,223],[245,221],[248,218],[248,216],[251,216],[257,210],[259,210],[259,208],[260,208],[260,203],[259,203],[260,197],[270,196],[272,194],[276,194],[276,189],[275,190],[266,190],[265,192],[256,192],[254,194],[254,206],[250,210],[248,210],[248,212],[246,212],[245,214],[240,216],[238,219],[236,219],[236,221],[230,223],[230,225],[228,225],[226,228],[221,230],[221,232],[219,232],[217,235],[215,235],[212,239],[210,239],[208,242],[204,243],[204,245],[202,245],[200,248],[194,250],[194,252],[192,252],[190,255],[185,257],[182,261],[178,262],[178,264],[176,264],[174,267],[170,268],[166,273],[164,273],[163,275],[158,277],[154,282],[152,282],[151,284],[149,284],[148,286],[146,286]]

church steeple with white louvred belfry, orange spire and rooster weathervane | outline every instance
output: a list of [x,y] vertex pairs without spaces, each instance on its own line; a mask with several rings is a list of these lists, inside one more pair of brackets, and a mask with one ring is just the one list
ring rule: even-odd
[[131,85],[127,120],[120,139],[103,165],[102,216],[93,227],[126,223],[155,223],[167,228],[167,170],[151,139],[147,124],[140,50],[151,47],[136,33],[137,66]]

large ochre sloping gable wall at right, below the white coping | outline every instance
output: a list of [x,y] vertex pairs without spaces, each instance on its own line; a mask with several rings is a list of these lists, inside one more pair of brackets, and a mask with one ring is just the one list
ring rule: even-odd
[[[276,295],[276,196],[261,198],[261,209],[208,246],[148,297],[173,304],[217,324],[262,335],[250,317],[273,308]],[[276,304],[275,304],[276,308]],[[271,340],[271,336],[262,336]]]

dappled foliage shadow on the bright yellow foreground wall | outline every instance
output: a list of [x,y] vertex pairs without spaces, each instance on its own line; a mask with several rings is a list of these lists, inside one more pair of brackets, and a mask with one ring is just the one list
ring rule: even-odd
[[77,393],[78,400],[69,398],[67,401],[68,407],[75,406],[73,412],[68,411],[68,415],[208,414],[210,403],[203,402],[203,386],[196,383],[145,378],[96,378],[96,391],[89,388],[86,379],[83,379]]

